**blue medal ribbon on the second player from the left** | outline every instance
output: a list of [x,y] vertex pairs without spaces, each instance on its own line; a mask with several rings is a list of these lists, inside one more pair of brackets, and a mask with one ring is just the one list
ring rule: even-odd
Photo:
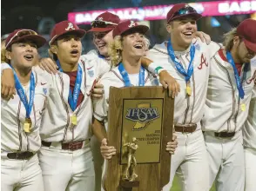
[[[63,72],[63,69],[61,68],[59,61],[57,61],[57,66],[58,66],[58,70]],[[69,93],[69,104],[71,106],[72,111],[74,111],[77,108],[77,100],[78,100],[81,83],[82,83],[82,75],[83,75],[82,68],[80,65],[78,65],[77,78],[76,78],[73,94],[71,92],[71,89],[70,89],[70,93]]]

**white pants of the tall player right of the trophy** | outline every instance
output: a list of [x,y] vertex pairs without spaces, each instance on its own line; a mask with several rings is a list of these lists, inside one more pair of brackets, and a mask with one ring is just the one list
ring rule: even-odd
[[209,164],[201,130],[193,133],[175,133],[178,148],[172,155],[170,181],[163,191],[170,191],[174,175],[178,175],[184,191],[208,191]]

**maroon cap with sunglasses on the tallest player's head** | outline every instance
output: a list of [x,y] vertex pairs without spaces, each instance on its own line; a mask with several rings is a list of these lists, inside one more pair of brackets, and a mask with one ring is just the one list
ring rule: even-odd
[[186,3],[177,3],[174,4],[172,9],[169,10],[166,16],[167,23],[170,23],[171,21],[182,18],[182,17],[193,17],[196,21],[199,20],[199,18],[202,17],[197,10],[192,8]]

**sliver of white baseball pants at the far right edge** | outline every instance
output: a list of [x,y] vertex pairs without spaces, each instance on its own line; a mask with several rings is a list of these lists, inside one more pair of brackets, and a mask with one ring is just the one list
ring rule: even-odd
[[245,191],[256,190],[256,149],[245,148],[246,186]]

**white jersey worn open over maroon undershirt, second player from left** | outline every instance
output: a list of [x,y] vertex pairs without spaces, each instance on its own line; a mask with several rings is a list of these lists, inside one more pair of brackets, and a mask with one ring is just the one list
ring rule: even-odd
[[[40,129],[44,142],[83,141],[91,138],[91,89],[98,76],[102,76],[110,66],[102,59],[88,59],[86,55],[81,56],[78,63],[83,70],[81,92],[84,100],[74,112],[68,103],[70,77],[61,72],[56,75],[44,72],[51,83],[51,94]],[[71,116],[74,114],[77,115],[76,126],[71,123]]]

